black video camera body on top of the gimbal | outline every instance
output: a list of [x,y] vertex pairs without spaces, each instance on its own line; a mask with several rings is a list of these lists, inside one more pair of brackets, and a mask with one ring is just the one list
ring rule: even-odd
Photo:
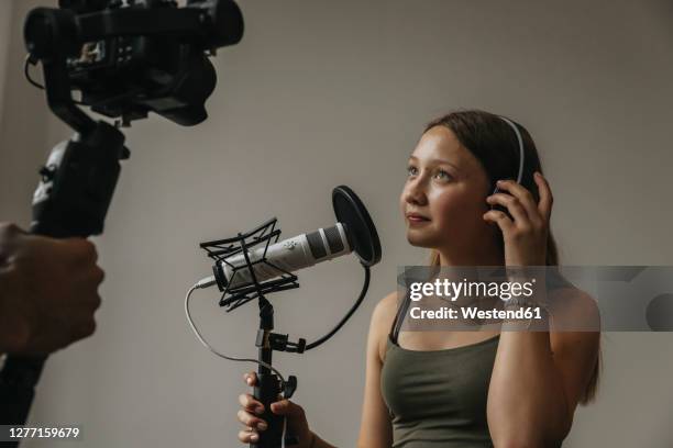
[[[42,61],[49,107],[76,131],[88,125],[73,103],[123,125],[150,111],[186,126],[202,122],[217,82],[208,56],[243,35],[232,0],[188,0],[183,8],[173,0],[60,0],[59,7],[30,12],[26,65]],[[73,90],[80,92],[77,102]]]

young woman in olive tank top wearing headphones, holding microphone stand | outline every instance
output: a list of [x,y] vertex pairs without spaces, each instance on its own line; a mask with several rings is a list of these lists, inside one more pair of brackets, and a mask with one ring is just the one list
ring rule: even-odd
[[[409,158],[400,197],[407,239],[432,249],[434,266],[555,266],[550,231],[552,192],[528,132],[521,183],[516,178],[515,130],[483,111],[453,112],[431,122]],[[504,206],[508,214],[490,210]],[[549,294],[572,288],[570,283]],[[572,299],[566,299],[572,298]],[[573,315],[596,317],[580,290],[565,294]],[[593,400],[599,371],[599,333],[399,332],[397,292],[372,315],[366,348],[362,448],[552,447],[569,434],[575,407]],[[552,313],[553,315],[553,313]],[[551,328],[553,329],[553,316]],[[254,372],[245,374],[253,385]],[[261,403],[240,396],[243,443],[266,424]],[[304,410],[283,400],[300,448],[332,447],[309,429]]]

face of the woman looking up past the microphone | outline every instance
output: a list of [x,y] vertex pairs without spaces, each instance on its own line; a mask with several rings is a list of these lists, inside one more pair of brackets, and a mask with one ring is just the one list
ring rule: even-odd
[[488,188],[482,164],[451,130],[428,130],[411,153],[400,195],[407,239],[413,246],[470,250],[478,238],[493,238],[482,217],[489,210]]

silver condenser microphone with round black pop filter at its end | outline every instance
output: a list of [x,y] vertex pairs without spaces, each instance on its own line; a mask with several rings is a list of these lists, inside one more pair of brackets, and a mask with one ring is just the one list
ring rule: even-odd
[[218,260],[212,267],[213,276],[200,280],[197,288],[217,284],[224,291],[247,287],[255,280],[261,283],[353,251],[362,265],[377,264],[380,260],[378,234],[360,198],[341,186],[332,191],[332,204],[339,221],[333,226]]

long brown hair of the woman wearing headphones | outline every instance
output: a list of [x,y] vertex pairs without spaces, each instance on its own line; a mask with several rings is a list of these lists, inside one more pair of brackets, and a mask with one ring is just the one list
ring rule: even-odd
[[[512,120],[510,119],[510,121]],[[523,141],[525,167],[521,184],[532,193],[536,202],[539,202],[540,192],[533,180],[533,173],[540,171],[543,175],[544,172],[540,164],[538,148],[526,127],[519,123],[514,123],[519,128]],[[461,145],[482,164],[490,180],[489,194],[495,189],[495,182],[498,179],[516,179],[519,164],[519,143],[509,124],[498,115],[479,110],[455,111],[428,123],[423,133],[434,126],[444,126],[451,130]],[[498,238],[498,244],[500,249],[504,249],[503,238]],[[545,265],[559,266],[559,248],[551,228],[547,238]],[[440,254],[435,249],[430,254],[430,266],[440,266]],[[602,365],[603,357],[599,349],[598,359],[580,403],[588,404],[596,397]]]

